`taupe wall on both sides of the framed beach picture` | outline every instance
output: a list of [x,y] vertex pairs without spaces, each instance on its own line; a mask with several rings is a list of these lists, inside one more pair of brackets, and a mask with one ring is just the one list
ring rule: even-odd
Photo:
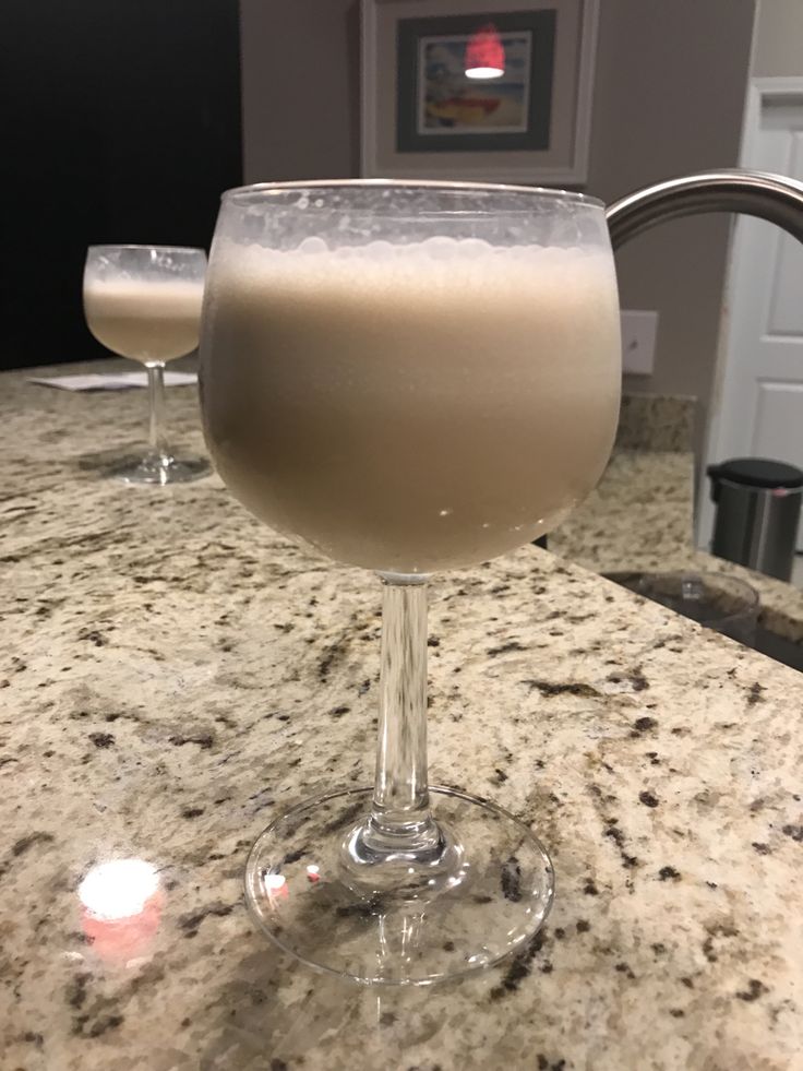
[[[734,166],[754,0],[600,8],[588,191],[612,201],[661,178]],[[358,174],[355,0],[241,0],[241,11],[247,180]],[[680,221],[620,253],[623,307],[661,318],[655,373],[628,377],[628,389],[696,394],[705,412],[728,237],[724,217]]]

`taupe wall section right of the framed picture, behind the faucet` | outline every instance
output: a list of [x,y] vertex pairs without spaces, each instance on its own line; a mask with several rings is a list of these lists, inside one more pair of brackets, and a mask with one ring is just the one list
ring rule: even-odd
[[[602,0],[589,191],[610,202],[739,160],[753,0]],[[694,394],[698,442],[711,394],[728,258],[727,217],[681,219],[618,255],[623,308],[658,309],[651,377],[633,391]]]

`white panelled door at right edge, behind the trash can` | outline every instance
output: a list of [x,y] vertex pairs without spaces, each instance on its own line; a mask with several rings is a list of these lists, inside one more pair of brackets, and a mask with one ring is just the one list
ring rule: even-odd
[[[743,166],[803,180],[803,80],[795,81],[798,92],[759,95]],[[707,463],[769,457],[803,468],[803,245],[772,224],[740,216],[729,305]],[[714,510],[704,484],[698,542],[707,546]],[[803,532],[800,543],[803,548]]]

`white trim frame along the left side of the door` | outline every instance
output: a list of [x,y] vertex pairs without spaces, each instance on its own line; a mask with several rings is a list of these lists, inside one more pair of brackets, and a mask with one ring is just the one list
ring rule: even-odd
[[[756,78],[751,79],[742,121],[742,140],[739,152],[739,166],[756,169],[758,139],[762,129],[762,115],[770,102],[792,99],[803,96],[803,76],[789,78]],[[733,367],[734,350],[738,345],[736,332],[733,329],[731,308],[733,299],[742,283],[741,272],[745,265],[745,235],[740,227],[734,226],[728,257],[728,270],[722,302],[722,317],[717,346],[717,361],[714,374],[714,390],[708,416],[708,427],[704,439],[703,465],[699,472],[697,488],[697,511],[695,525],[696,545],[707,550],[714,533],[714,503],[710,500],[706,467],[711,460],[719,459],[719,448],[722,441],[722,394],[729,367]]]

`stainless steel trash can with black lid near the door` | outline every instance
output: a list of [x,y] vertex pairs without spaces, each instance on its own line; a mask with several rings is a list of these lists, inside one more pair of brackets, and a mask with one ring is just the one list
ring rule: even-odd
[[717,503],[711,552],[789,580],[798,542],[803,472],[759,457],[710,465],[711,498]]

